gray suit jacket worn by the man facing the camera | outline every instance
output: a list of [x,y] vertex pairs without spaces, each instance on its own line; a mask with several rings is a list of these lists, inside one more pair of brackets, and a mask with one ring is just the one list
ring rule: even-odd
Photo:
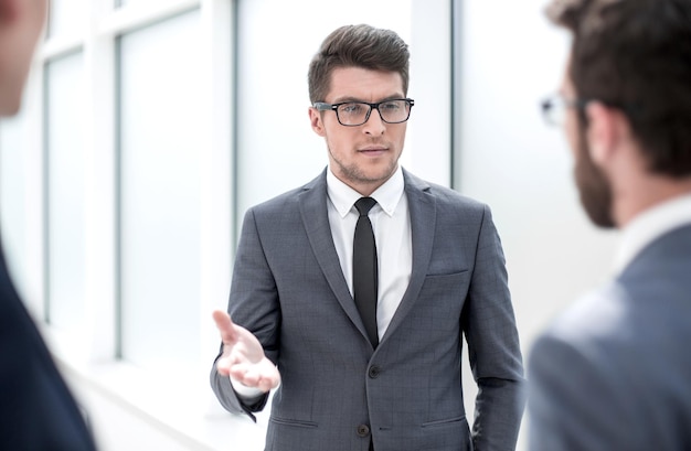
[[[245,216],[228,312],[278,365],[266,450],[513,450],[523,371],[489,208],[404,171],[410,286],[376,350],[348,289],[327,214],[326,171]],[[479,385],[472,438],[461,334]],[[244,406],[212,368],[230,411]]]

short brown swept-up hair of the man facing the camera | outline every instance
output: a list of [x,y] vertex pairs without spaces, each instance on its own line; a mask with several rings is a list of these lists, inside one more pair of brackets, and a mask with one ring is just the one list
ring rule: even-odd
[[325,39],[309,65],[309,99],[323,101],[329,93],[331,74],[339,67],[363,67],[397,72],[407,95],[410,52],[407,44],[391,30],[374,26],[346,25]]

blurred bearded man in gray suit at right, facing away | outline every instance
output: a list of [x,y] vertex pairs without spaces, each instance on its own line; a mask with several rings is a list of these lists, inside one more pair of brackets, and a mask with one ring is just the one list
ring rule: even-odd
[[573,33],[560,95],[593,222],[621,229],[615,278],[529,363],[531,451],[691,449],[691,1],[555,1]]

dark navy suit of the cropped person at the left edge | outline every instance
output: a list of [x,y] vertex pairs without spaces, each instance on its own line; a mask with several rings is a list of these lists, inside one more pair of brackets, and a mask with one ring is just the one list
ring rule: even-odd
[[72,394],[20,301],[0,250],[0,448],[94,450]]

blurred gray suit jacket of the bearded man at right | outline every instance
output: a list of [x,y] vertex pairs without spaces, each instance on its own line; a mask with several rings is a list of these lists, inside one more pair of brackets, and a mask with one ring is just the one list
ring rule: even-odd
[[691,226],[648,245],[531,351],[531,451],[691,449]]

